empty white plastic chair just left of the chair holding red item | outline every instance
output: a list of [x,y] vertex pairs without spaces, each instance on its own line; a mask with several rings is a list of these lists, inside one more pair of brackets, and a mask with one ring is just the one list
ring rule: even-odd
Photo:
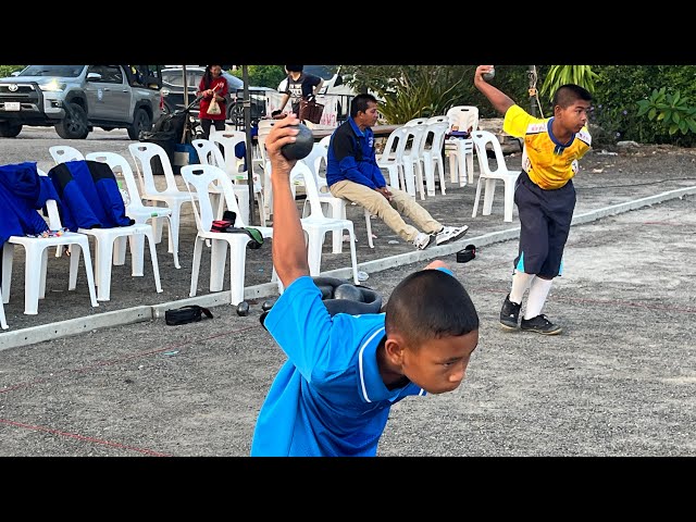
[[[140,181],[140,196],[146,201],[161,201],[171,211],[170,222],[173,233],[169,237],[169,252],[178,252],[178,237],[182,222],[182,206],[191,202],[187,191],[179,190],[174,177],[174,171],[166,151],[162,146],[151,142],[135,142],[128,145],[128,151],[133,158]],[[164,172],[166,187],[160,190],[154,182],[153,161],[159,159]],[[162,231],[162,227],[159,227]],[[160,241],[161,237],[156,237]]]

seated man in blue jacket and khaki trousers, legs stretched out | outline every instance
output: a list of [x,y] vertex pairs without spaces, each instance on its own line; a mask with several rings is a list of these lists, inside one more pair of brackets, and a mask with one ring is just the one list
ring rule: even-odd
[[[377,99],[368,94],[356,96],[350,117],[334,132],[328,145],[326,183],[331,194],[368,209],[420,250],[433,240],[444,245],[467,234],[468,225],[444,226],[408,192],[387,186],[375,159],[371,127],[376,122]],[[407,224],[401,214],[417,226]]]

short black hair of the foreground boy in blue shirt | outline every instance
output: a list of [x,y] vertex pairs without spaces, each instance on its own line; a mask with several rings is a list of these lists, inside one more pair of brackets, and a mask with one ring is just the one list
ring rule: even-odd
[[464,286],[442,270],[410,274],[384,308],[386,334],[398,332],[415,349],[428,339],[478,330],[478,314]]

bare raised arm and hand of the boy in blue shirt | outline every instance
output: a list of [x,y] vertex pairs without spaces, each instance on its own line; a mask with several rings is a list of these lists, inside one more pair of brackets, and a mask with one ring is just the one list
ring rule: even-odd
[[295,141],[299,130],[290,125],[298,123],[296,114],[277,120],[265,138],[273,187],[273,265],[285,288],[298,277],[309,275],[304,232],[290,189],[290,171],[296,160],[288,161],[281,152],[284,145]]

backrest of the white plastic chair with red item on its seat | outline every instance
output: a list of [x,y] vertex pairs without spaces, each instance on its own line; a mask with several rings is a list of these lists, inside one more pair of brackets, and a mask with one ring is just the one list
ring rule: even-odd
[[221,167],[216,165],[184,165],[182,166],[182,177],[186,184],[188,191],[198,195],[198,204],[194,198],[194,215],[196,217],[196,226],[201,232],[210,232],[212,226],[215,209],[213,209],[210,200],[210,187],[220,187],[225,198],[226,208],[233,211],[237,219],[235,226],[247,226],[241,220],[237,198],[235,198],[234,186],[232,181]]

